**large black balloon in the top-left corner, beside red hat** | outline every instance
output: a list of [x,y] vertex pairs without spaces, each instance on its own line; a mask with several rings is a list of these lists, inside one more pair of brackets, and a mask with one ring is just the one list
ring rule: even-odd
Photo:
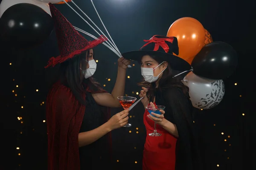
[[49,37],[52,29],[52,17],[30,3],[15,4],[1,17],[1,38],[19,48],[40,44]]

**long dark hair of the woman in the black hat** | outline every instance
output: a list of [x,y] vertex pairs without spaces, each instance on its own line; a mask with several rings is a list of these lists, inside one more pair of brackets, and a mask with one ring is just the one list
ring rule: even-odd
[[[158,62],[158,64],[165,62],[165,60],[163,58],[157,57],[157,56],[152,56],[149,55],[152,59],[156,60]],[[160,67],[160,66],[159,66]],[[149,101],[153,101],[154,100],[154,91],[156,88],[156,83],[155,82],[146,82],[145,80],[143,82],[140,82],[139,85],[141,87],[145,87],[148,89],[147,92],[147,97],[149,99]],[[166,88],[171,88],[171,87],[178,87],[180,88],[183,93],[189,97],[189,87],[187,87],[186,85],[183,84],[182,82],[182,78],[180,76],[177,77],[173,77],[172,74],[172,68],[171,66],[168,64],[167,68],[165,69],[165,71],[163,71],[162,77],[159,80],[159,84],[158,84],[158,89],[163,90]]]

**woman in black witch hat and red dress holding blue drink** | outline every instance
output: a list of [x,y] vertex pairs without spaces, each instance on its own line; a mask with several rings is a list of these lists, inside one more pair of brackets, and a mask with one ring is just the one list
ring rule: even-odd
[[[193,131],[192,103],[189,88],[173,77],[172,69],[190,71],[191,66],[178,55],[176,37],[153,36],[139,51],[122,54],[125,59],[141,62],[140,97],[144,107],[166,106],[162,114],[151,116],[146,110],[144,124],[147,136],[143,153],[143,170],[200,170],[198,143]],[[162,136],[149,136],[154,131]],[[199,166],[198,166],[199,165]]]

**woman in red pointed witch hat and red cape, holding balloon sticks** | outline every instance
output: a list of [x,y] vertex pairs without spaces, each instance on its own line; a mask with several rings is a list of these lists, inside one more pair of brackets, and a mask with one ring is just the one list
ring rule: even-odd
[[[46,68],[60,65],[59,80],[47,96],[48,170],[99,170],[111,165],[111,130],[128,122],[128,110],[110,117],[108,107],[119,107],[124,94],[129,60],[118,60],[116,85],[108,94],[92,75],[95,46],[103,36],[88,42],[50,3],[58,39],[58,57]],[[118,85],[117,85],[118,84]]]

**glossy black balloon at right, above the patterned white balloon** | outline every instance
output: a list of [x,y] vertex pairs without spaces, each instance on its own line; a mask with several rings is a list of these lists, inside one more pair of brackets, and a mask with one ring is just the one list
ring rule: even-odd
[[236,70],[238,57],[231,45],[212,42],[204,46],[193,59],[193,73],[207,79],[224,79]]

